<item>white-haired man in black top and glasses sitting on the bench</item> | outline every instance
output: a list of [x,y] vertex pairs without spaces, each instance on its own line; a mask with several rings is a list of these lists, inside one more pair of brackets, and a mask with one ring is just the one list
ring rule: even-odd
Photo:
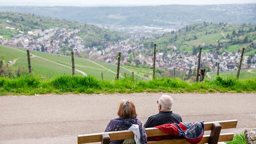
[[157,101],[158,114],[152,115],[144,124],[145,128],[155,127],[163,124],[171,124],[182,122],[180,115],[172,112],[172,97],[169,95],[162,95]]

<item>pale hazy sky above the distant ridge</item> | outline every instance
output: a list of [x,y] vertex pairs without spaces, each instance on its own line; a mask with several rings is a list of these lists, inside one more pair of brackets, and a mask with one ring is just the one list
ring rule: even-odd
[[0,5],[97,6],[97,5],[165,5],[165,4],[234,4],[256,0],[0,0]]

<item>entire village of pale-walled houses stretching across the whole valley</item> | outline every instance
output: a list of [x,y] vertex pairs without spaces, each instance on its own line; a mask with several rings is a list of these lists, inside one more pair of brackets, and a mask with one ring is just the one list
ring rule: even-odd
[[[27,34],[23,32],[11,39],[4,39],[0,36],[0,43],[2,45],[20,47],[24,49],[43,51],[47,53],[58,54],[60,52],[66,53],[63,47],[73,49],[76,53],[87,53],[89,58],[98,61],[104,61],[106,63],[116,63],[116,55],[118,52],[122,53],[121,64],[127,62],[134,66],[140,64],[151,66],[153,65],[153,55],[143,55],[140,52],[147,52],[148,49],[138,42],[130,42],[131,39],[151,39],[150,34],[138,34],[129,33],[128,38],[119,42],[107,44],[105,49],[98,50],[96,47],[85,47],[83,39],[76,34],[79,29],[71,30],[65,28],[52,28],[42,31],[36,29],[34,31],[28,31]],[[176,46],[172,46],[173,51],[168,54],[156,53],[156,67],[161,69],[178,69],[189,73],[190,70],[197,68],[198,53],[192,55],[187,52],[179,52]],[[131,61],[130,53],[137,52],[133,55],[132,59],[136,59],[137,62]],[[220,63],[220,69],[222,71],[236,70],[240,61],[240,52],[223,52],[217,55],[214,52],[206,52],[201,55],[201,65],[208,66],[212,71],[217,70],[217,64]],[[251,59],[251,63],[247,64],[249,56],[244,56],[242,61],[242,68],[256,68],[256,54]]]

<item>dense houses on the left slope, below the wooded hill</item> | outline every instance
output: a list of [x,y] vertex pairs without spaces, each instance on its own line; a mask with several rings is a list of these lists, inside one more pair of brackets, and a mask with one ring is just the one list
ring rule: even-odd
[[57,53],[62,50],[64,45],[73,48],[74,51],[84,52],[84,40],[75,35],[79,31],[79,29],[60,29],[58,27],[45,29],[44,31],[36,29],[35,31],[28,31],[27,34],[20,33],[11,39],[4,39],[0,36],[0,42],[2,45],[48,53]]

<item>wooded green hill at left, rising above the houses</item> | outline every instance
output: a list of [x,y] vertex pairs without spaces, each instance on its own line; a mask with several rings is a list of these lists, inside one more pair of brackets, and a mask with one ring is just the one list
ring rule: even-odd
[[13,12],[0,13],[0,36],[3,36],[4,38],[10,39],[17,34],[27,34],[28,31],[34,31],[35,29],[44,31],[46,29],[57,27],[78,30],[76,35],[80,36],[84,40],[84,45],[89,47],[104,47],[108,42],[114,42],[124,38],[124,36],[118,32],[110,31],[91,24],[57,18],[54,19],[35,14]]

